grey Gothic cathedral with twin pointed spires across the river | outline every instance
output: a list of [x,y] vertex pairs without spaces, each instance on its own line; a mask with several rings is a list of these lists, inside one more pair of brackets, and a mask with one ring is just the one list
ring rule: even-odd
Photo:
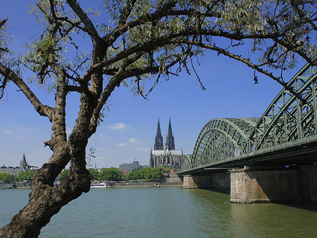
[[161,135],[160,119],[157,124],[157,131],[154,142],[154,150],[151,149],[149,167],[161,167],[168,165],[170,168],[180,167],[182,159],[182,149],[175,150],[174,136],[172,126],[168,124],[168,133],[166,135],[165,149],[163,148],[163,136]]

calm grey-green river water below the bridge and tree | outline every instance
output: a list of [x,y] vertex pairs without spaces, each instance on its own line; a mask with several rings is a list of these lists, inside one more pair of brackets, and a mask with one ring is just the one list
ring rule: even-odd
[[[0,189],[0,227],[28,189]],[[235,204],[181,187],[91,189],[54,215],[39,237],[317,237],[317,203]]]

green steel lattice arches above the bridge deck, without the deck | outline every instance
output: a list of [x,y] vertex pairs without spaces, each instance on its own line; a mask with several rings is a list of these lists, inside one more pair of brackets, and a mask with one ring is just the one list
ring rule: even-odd
[[283,143],[295,145],[302,138],[309,141],[316,137],[316,81],[317,67],[306,64],[287,83],[294,93],[283,88],[262,117],[208,121],[199,133],[191,160],[187,156],[183,167],[210,166],[240,154],[259,153]]

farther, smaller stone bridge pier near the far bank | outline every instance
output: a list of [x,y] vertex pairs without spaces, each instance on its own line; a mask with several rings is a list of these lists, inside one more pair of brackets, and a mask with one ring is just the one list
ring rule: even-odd
[[184,189],[223,189],[230,187],[230,174],[218,173],[210,175],[184,175]]

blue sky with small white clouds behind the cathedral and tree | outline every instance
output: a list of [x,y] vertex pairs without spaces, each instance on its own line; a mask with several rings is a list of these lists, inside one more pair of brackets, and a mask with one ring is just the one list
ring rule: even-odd
[[[100,8],[101,1],[93,3],[93,7]],[[10,21],[11,49],[15,51],[21,51],[20,46],[41,29],[27,10],[27,1],[1,2],[0,18]],[[132,95],[130,88],[122,85],[116,88],[110,97],[110,112],[87,145],[87,153],[89,148],[95,149],[91,165],[119,167],[134,160],[149,165],[158,118],[164,143],[170,118],[175,149],[182,148],[184,154],[190,154],[199,132],[209,120],[261,117],[282,89],[271,78],[259,74],[259,83],[255,84],[251,69],[213,52],[206,52],[199,63],[197,73],[206,90],[201,90],[194,72],[191,75],[180,73],[179,77],[159,83],[148,100]],[[302,66],[304,64],[299,64],[293,71],[285,72],[285,78],[292,77]],[[29,85],[44,104],[53,102],[54,95],[34,84]],[[67,102],[68,133],[75,124],[78,99],[78,95],[70,95]],[[44,141],[50,138],[49,120],[40,117],[23,93],[9,83],[0,104],[0,165],[18,166],[25,154],[29,165],[41,167],[52,154],[49,148],[44,148]]]

